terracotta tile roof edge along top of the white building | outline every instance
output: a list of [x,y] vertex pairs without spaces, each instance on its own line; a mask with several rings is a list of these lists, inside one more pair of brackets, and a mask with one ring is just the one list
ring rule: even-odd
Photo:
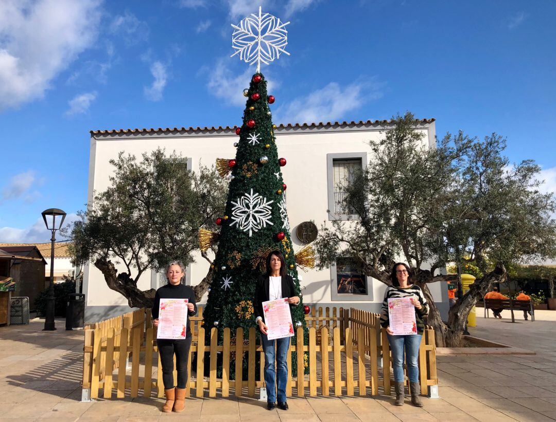
[[[435,119],[421,119],[420,123],[432,123]],[[359,122],[320,122],[320,123],[287,123],[277,125],[277,129],[290,129],[290,128],[318,128],[318,127],[349,127],[349,126],[369,126],[380,124],[391,124],[394,120],[360,120]],[[172,132],[233,132],[236,126],[219,126],[219,127],[181,127],[181,128],[150,128],[150,129],[109,129],[109,130],[90,130],[91,135],[110,135],[110,134],[125,134],[125,133],[172,133]]]

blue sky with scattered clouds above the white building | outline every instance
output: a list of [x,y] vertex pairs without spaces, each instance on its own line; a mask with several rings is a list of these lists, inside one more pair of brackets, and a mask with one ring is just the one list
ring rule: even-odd
[[40,213],[86,201],[91,129],[234,125],[254,68],[230,23],[291,21],[269,68],[275,123],[436,118],[508,138],[556,190],[556,2],[3,0],[0,242],[48,241]]

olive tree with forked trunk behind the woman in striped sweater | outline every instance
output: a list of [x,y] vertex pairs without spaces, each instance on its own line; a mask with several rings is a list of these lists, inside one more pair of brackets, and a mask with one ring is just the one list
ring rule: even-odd
[[[497,134],[483,141],[446,134],[430,148],[413,114],[394,120],[381,140],[370,142],[365,172],[345,187],[346,205],[359,219],[322,225],[319,267],[350,256],[366,275],[389,284],[393,263],[409,263],[431,303],[437,344],[459,346],[471,308],[492,283],[505,280],[505,266],[556,255],[554,197],[539,192],[538,165],[510,165]],[[440,274],[450,262],[473,263],[483,277],[444,323],[426,285],[456,279]]]

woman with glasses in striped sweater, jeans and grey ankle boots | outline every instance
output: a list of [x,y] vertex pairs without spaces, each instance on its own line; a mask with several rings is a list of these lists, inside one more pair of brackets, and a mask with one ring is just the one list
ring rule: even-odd
[[[404,263],[396,263],[390,274],[392,285],[386,288],[382,312],[380,315],[380,324],[388,333],[388,341],[392,350],[392,366],[394,368],[394,387],[396,390],[396,406],[404,404],[404,349],[406,364],[408,366],[409,386],[411,393],[411,403],[414,406],[423,406],[419,399],[419,345],[421,344],[421,336],[425,329],[423,318],[429,313],[429,305],[426,303],[423,290],[411,281],[411,270],[409,265]],[[393,298],[411,298],[411,303],[415,307],[415,322],[417,325],[417,334],[412,335],[394,335],[390,330],[390,322],[388,318],[388,299]]]

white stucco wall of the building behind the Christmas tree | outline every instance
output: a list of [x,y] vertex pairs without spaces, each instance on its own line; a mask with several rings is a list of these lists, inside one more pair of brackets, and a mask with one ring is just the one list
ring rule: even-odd
[[[369,153],[370,158],[368,141],[383,137],[384,132],[381,134],[381,131],[385,129],[387,127],[376,124],[353,124],[345,127],[279,127],[275,130],[279,157],[287,159],[287,165],[282,167],[282,174],[287,184],[287,209],[295,250],[301,248],[301,243],[295,235],[298,224],[314,220],[317,227],[320,227],[322,222],[329,221],[326,212],[329,208],[327,154],[366,152]],[[423,143],[433,147],[434,122],[423,123],[423,127],[419,130],[424,134]],[[88,199],[92,199],[93,191],[101,192],[108,186],[108,176],[112,172],[108,160],[116,158],[118,152],[122,150],[136,157],[157,147],[165,148],[168,152],[176,150],[184,157],[191,158],[192,169],[196,170],[200,162],[210,166],[215,163],[216,158],[235,157],[236,148],[233,143],[237,139],[237,135],[231,129],[93,135]],[[199,255],[196,258],[196,263],[190,268],[192,285],[200,282],[209,265]],[[333,284],[335,280],[331,280],[330,270],[310,270],[307,273],[300,271],[299,274],[302,277],[301,289],[305,303],[338,307],[346,304],[332,299],[331,288],[335,286]],[[102,274],[92,265],[86,266],[84,275],[83,293],[87,295],[87,320],[106,318],[107,313],[119,313],[127,307],[126,299],[108,289]],[[368,289],[373,292],[373,300],[359,301],[353,298],[355,300],[349,300],[349,306],[376,312],[383,299],[385,287],[378,280],[368,281]],[[141,277],[138,287],[148,289],[151,286],[156,287],[151,284],[151,274],[146,273]],[[431,290],[435,302],[447,301],[447,293],[443,293],[439,283],[431,285]]]

